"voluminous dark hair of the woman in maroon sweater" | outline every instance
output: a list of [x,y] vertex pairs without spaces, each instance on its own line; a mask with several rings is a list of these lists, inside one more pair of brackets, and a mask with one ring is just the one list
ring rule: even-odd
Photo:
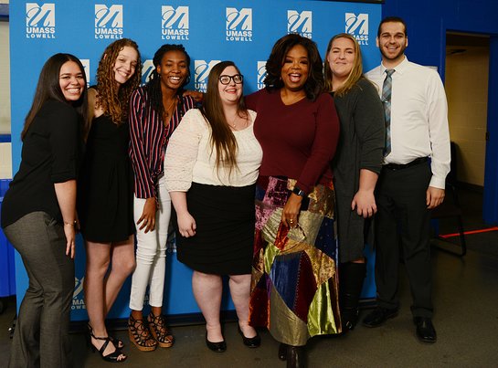
[[266,78],[264,84],[267,89],[275,90],[283,87],[281,68],[283,61],[292,47],[301,45],[308,52],[310,68],[308,79],[304,84],[304,91],[308,100],[316,100],[323,91],[323,63],[316,43],[310,38],[298,34],[281,37],[271,49],[270,58],[266,62]]

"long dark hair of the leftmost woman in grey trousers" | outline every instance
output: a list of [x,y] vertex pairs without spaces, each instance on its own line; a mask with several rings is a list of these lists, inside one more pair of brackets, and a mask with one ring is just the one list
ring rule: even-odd
[[[60,89],[60,68],[68,61],[74,61],[79,66],[79,70],[83,75],[85,80],[85,87],[79,100],[68,101],[64,97],[62,89]],[[87,120],[88,117],[88,95],[87,95],[87,79],[85,76],[85,69],[79,61],[71,54],[58,53],[48,58],[45,62],[43,68],[41,69],[40,76],[38,78],[37,89],[35,91],[35,97],[33,98],[33,103],[31,108],[27,112],[25,125],[23,131],[21,131],[21,140],[26,137],[26,132],[29,129],[31,123],[35,120],[37,113],[43,107],[43,104],[48,100],[58,100],[59,102],[64,102],[72,107],[81,115],[83,121]]]

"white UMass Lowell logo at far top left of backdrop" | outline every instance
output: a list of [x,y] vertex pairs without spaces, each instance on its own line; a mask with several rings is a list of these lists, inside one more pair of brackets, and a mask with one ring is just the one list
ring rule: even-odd
[[26,3],[26,38],[56,37],[56,5]]

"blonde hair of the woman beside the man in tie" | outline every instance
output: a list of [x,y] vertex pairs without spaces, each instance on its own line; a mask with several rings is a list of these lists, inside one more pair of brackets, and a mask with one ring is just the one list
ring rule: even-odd
[[344,82],[344,85],[341,86],[339,89],[335,89],[335,95],[337,96],[344,96],[347,92],[349,92],[355,84],[358,82],[358,80],[364,78],[363,76],[363,61],[362,61],[362,54],[361,54],[361,49],[360,45],[358,44],[358,41],[356,41],[356,38],[347,34],[347,33],[340,33],[338,35],[335,35],[332,37],[329,41],[329,45],[327,46],[327,52],[325,54],[325,67],[324,67],[324,76],[325,76],[325,90],[327,92],[332,92],[334,90],[334,86],[332,85],[332,69],[330,68],[330,65],[327,61],[328,55],[330,53],[330,50],[332,49],[332,44],[334,43],[334,40],[338,38],[347,38],[350,39],[353,42],[354,48],[355,48],[355,62],[353,64],[353,68],[351,68],[351,71],[349,72],[349,76],[347,76],[347,79]]

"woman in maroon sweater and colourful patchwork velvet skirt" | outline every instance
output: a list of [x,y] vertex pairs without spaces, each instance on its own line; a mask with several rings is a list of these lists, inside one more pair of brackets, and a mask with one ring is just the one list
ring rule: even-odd
[[263,149],[249,322],[268,327],[279,358],[301,367],[310,337],[341,331],[329,164],[339,121],[312,40],[281,37],[266,70],[266,88],[247,98]]

